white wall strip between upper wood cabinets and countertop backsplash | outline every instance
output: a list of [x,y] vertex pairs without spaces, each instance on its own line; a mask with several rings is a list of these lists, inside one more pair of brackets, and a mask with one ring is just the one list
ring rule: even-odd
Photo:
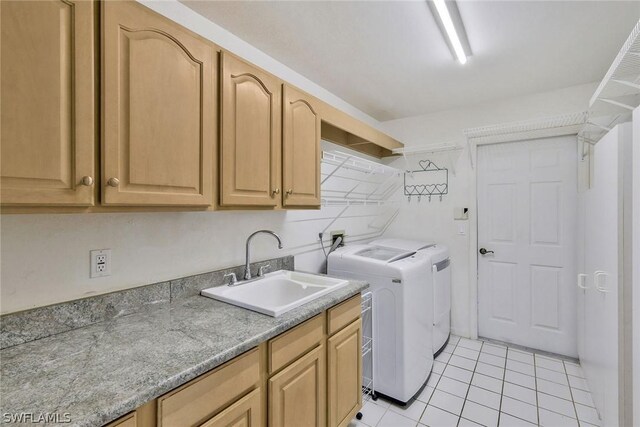
[[[342,210],[3,215],[0,309],[9,313],[244,263],[250,233],[279,233],[252,243],[254,261],[296,255],[296,268],[320,272],[318,233]],[[356,241],[376,237],[363,218],[378,207],[352,207],[329,230]],[[328,238],[328,236],[327,236]],[[326,243],[325,243],[326,244]],[[89,278],[89,251],[111,249],[112,275]]]

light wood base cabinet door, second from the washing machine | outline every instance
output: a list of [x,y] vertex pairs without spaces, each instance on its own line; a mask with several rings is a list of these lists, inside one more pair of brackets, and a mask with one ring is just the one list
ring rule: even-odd
[[269,380],[270,427],[324,427],[325,347],[319,345]]

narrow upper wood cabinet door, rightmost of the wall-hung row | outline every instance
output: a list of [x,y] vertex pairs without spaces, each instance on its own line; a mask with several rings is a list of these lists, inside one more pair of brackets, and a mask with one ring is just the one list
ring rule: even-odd
[[283,206],[320,206],[320,115],[316,102],[283,85]]

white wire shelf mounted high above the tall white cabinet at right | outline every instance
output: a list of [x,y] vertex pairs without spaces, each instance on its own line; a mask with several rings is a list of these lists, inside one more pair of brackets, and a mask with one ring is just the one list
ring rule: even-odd
[[578,138],[591,145],[597,144],[615,125],[629,121],[639,105],[640,20],[591,97],[589,117],[578,132]]

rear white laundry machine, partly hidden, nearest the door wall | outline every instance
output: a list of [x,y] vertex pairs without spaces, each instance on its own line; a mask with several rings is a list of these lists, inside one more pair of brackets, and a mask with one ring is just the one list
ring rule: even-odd
[[378,239],[374,246],[426,253],[431,258],[429,271],[433,281],[433,353],[439,354],[451,331],[451,260],[449,248],[430,242],[407,239]]

